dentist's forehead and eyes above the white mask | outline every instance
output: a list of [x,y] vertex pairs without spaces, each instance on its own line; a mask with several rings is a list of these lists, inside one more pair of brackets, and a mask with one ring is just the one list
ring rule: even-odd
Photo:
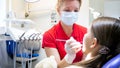
[[80,3],[77,0],[66,0],[59,8],[58,12],[61,15],[62,11],[66,12],[78,12],[80,8]]

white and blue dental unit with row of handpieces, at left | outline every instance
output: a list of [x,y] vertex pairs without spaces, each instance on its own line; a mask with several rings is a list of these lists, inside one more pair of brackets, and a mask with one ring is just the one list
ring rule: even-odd
[[[29,25],[34,22],[30,19],[8,18],[4,20],[9,25],[5,27],[4,40],[6,41],[6,51],[8,56],[13,60],[13,67],[17,63],[22,68],[32,68],[32,62],[39,57],[42,35],[36,29],[19,29],[12,27],[11,24]],[[7,38],[9,37],[9,39]]]

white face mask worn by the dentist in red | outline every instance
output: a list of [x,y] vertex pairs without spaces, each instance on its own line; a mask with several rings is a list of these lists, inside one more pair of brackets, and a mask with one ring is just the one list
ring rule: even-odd
[[61,20],[66,25],[73,25],[78,20],[78,12],[65,12],[61,14]]

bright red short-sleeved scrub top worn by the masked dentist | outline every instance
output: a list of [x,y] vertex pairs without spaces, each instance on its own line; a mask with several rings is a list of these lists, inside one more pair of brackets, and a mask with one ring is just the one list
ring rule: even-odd
[[[73,32],[71,36],[82,43],[83,36],[87,32],[87,29],[83,26],[74,24],[73,25]],[[62,29],[62,26],[60,22],[53,26],[51,29],[46,31],[43,35],[43,40],[42,40],[42,47],[50,47],[50,48],[56,48],[59,52],[60,59],[63,59],[64,56],[66,55],[65,49],[64,49],[64,44],[65,42],[63,41],[57,41],[56,39],[64,39],[67,40],[70,37],[68,37],[65,32]],[[74,59],[73,62],[79,62],[82,59],[83,53],[82,51],[79,51],[76,54],[76,58]]]

